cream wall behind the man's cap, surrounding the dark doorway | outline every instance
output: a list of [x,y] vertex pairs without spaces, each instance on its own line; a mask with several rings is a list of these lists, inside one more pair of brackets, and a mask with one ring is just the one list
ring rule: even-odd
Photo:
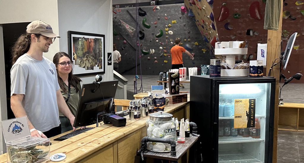
[[[57,1],[40,1],[40,0],[0,0],[0,25],[6,23],[31,22],[34,20],[43,20],[49,23],[54,33],[59,33],[58,29],[58,11]],[[26,29],[24,29],[25,32]],[[53,59],[55,53],[59,51],[59,41],[55,41],[50,46],[49,52],[45,53],[49,59]],[[5,67],[4,67],[4,50],[3,50],[3,32],[0,27],[0,117],[1,120],[7,119],[6,94],[5,93]],[[0,151],[5,145],[2,141],[2,131],[0,138]],[[5,147],[5,146],[4,146]]]

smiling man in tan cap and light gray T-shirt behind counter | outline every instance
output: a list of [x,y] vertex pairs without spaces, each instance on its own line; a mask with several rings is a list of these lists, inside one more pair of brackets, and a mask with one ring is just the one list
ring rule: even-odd
[[75,117],[60,92],[56,67],[42,55],[56,37],[60,36],[50,24],[33,21],[12,47],[11,109],[17,118],[27,116],[34,137],[61,133],[58,110],[74,124]]

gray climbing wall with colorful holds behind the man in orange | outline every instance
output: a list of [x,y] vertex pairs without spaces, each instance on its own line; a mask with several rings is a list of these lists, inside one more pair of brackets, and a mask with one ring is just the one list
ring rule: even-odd
[[[180,9],[181,6],[184,6],[184,4],[159,5],[160,9],[155,9],[155,11],[153,8],[156,6],[141,7],[141,9],[146,11],[147,15],[144,17],[137,15],[138,22],[144,31],[139,29],[145,34],[144,39],[139,40],[138,44],[136,43],[137,32],[135,31],[132,36],[120,21],[122,20],[130,27],[136,29],[135,21],[133,21],[127,13],[127,11],[129,11],[136,19],[136,8],[113,10],[116,12],[116,14],[113,12],[113,30],[119,33],[118,35],[113,35],[113,43],[116,44],[117,50],[122,55],[122,61],[119,63],[119,73],[126,75],[135,74],[136,57],[138,58],[137,64],[141,63],[143,75],[158,75],[161,71],[168,71],[171,69],[171,57],[169,57],[168,54],[170,54],[171,47],[174,46],[172,43],[174,43],[176,37],[181,38],[183,47],[188,44],[193,49],[193,51],[189,52],[195,54],[194,60],[191,60],[187,54],[183,54],[185,67],[200,67],[201,64],[209,64],[209,59],[213,57],[213,54],[209,52],[208,43],[203,40],[202,34],[197,29],[194,17],[189,17],[188,12],[186,14],[182,13]],[[166,20],[165,17],[168,19]],[[147,24],[151,26],[149,29],[143,26],[143,18],[147,18]],[[172,24],[171,21],[173,20],[176,20],[176,23]],[[157,24],[155,24],[155,22]],[[166,25],[169,24],[172,26],[170,28],[166,27]],[[169,31],[173,31],[173,34],[166,34],[165,28],[169,28]],[[163,31],[163,36],[156,39],[155,35],[159,33],[160,29]],[[136,51],[128,42],[130,42],[134,48],[137,48],[136,46],[139,45],[143,51],[154,49],[155,53],[142,55],[140,52],[140,56],[136,56]],[[195,45],[195,42],[197,42],[198,45]],[[161,50],[160,47],[163,47],[163,49]],[[204,53],[202,49],[207,51]],[[165,54],[167,54],[167,56],[164,56]],[[156,57],[156,60],[154,57]],[[165,61],[168,62],[165,63]],[[200,73],[199,70],[198,73]],[[137,67],[137,74],[140,74],[139,66]]]

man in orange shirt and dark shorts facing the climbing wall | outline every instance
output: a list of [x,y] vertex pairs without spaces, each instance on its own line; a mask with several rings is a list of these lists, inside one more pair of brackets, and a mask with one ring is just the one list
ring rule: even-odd
[[[179,69],[184,67],[182,53],[186,53],[190,57],[190,59],[194,60],[194,57],[190,52],[188,52],[184,47],[179,46],[180,43],[181,43],[181,39],[176,38],[175,46],[173,46],[170,50],[172,69]],[[180,86],[184,88],[184,86],[181,83]]]

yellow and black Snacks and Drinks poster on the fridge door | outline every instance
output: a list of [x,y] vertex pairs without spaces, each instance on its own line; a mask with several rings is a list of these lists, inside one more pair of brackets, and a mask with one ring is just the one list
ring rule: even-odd
[[234,128],[254,127],[255,99],[234,100]]

